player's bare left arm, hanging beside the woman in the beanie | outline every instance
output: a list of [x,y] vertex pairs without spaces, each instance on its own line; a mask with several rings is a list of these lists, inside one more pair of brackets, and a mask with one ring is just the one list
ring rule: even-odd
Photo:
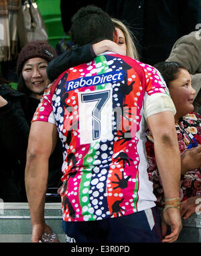
[[33,122],[29,133],[25,187],[32,224],[32,242],[38,242],[50,228],[44,221],[45,194],[48,182],[48,160],[57,141],[56,125]]

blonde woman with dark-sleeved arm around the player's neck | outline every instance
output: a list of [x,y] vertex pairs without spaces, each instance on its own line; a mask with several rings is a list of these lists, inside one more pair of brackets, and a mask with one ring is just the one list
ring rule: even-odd
[[91,61],[95,56],[106,51],[127,55],[139,60],[137,49],[134,44],[135,36],[123,22],[112,19],[115,24],[115,33],[118,38],[116,44],[111,40],[103,40],[96,44],[74,46],[71,50],[64,52],[48,64],[47,74],[50,81],[54,81],[66,69]]

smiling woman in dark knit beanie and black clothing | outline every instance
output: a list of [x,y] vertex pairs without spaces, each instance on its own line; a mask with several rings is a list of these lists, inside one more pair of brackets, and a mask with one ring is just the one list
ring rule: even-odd
[[[56,56],[54,48],[43,41],[31,42],[25,45],[21,52],[19,52],[17,59],[17,76],[19,77],[17,91],[25,93],[25,101],[22,108],[29,127],[44,89],[50,83],[46,67]],[[39,89],[40,91],[36,93]],[[58,141],[49,160],[48,188],[60,187],[62,162],[62,145]]]

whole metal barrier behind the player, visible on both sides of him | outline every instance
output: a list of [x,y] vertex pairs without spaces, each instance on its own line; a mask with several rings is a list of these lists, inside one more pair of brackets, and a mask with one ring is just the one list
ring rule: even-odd
[[[31,219],[28,204],[0,203],[0,243],[30,243]],[[61,203],[46,203],[45,219],[58,234],[60,242],[66,243],[62,230]],[[192,214],[187,220],[182,220],[182,225],[176,243],[201,243],[201,214]]]

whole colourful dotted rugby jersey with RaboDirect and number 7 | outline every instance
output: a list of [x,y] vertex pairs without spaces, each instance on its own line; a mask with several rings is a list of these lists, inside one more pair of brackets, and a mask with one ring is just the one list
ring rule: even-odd
[[64,220],[102,220],[155,206],[144,104],[157,93],[170,98],[156,69],[112,53],[68,69],[48,86],[33,122],[56,124],[62,140]]

